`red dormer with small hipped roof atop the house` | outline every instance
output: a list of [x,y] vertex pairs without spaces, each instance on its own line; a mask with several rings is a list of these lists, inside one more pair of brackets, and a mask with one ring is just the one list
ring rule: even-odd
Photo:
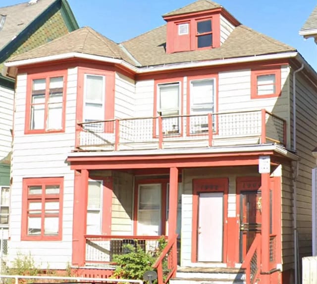
[[166,53],[220,47],[240,23],[220,4],[197,0],[163,15]]

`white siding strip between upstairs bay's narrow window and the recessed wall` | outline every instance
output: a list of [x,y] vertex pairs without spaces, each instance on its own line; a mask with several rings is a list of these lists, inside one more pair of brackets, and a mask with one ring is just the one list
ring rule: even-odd
[[135,110],[135,81],[115,72],[114,117],[130,118]]

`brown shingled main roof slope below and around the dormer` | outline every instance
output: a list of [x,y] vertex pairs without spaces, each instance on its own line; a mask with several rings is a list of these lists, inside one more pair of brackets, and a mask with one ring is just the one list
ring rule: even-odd
[[122,45],[143,66],[234,58],[296,50],[244,25],[236,27],[220,47],[212,49],[167,54],[165,52],[166,25],[126,41]]

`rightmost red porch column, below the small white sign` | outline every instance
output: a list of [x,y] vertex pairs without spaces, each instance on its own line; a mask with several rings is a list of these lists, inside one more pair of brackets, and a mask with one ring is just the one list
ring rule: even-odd
[[[262,197],[262,272],[269,271],[269,173],[261,174]],[[269,275],[268,275],[269,276]]]

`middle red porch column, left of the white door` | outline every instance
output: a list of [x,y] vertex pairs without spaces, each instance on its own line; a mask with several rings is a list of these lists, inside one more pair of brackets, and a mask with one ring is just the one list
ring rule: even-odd
[[169,170],[168,238],[176,234],[177,228],[178,168]]

